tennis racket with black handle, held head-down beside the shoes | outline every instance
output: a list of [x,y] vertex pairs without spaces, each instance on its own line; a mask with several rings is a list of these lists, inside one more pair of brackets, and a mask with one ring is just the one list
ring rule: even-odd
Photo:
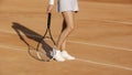
[[36,49],[31,47],[30,54],[34,55],[34,57],[40,61],[50,62],[53,60],[53,56],[51,53],[53,52],[53,45],[55,45],[55,41],[53,39],[52,32],[51,32],[51,18],[52,14],[48,13],[47,15],[47,28],[44,33],[44,35],[40,39]]

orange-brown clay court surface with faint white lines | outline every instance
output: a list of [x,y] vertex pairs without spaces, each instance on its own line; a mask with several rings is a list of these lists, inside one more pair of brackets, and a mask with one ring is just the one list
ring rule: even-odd
[[[67,42],[67,51],[77,58],[59,63],[34,60],[12,28],[24,26],[43,35],[47,1],[0,0],[0,75],[132,75],[132,3],[124,2],[79,0],[80,12]],[[62,15],[54,10],[55,40],[61,25]],[[36,45],[36,41],[22,36]]]

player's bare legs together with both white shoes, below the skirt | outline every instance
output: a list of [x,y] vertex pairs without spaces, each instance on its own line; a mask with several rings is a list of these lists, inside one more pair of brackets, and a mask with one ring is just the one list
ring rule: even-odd
[[63,14],[63,18],[64,18],[63,29],[62,29],[62,32],[59,34],[58,41],[56,43],[57,50],[61,50],[62,52],[56,51],[56,49],[53,49],[53,54],[55,52],[54,58],[58,62],[64,62],[65,60],[75,60],[74,56],[69,55],[65,51],[66,39],[74,29],[74,15],[73,15],[74,12],[67,11],[67,12],[63,12],[62,14]]

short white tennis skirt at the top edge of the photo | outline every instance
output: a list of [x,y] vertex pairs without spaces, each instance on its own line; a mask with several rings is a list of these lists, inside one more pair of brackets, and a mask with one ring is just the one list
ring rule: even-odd
[[78,11],[78,2],[77,0],[58,0],[57,11]]

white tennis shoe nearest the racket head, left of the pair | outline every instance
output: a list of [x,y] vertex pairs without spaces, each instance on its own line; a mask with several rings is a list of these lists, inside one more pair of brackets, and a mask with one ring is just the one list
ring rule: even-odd
[[64,62],[65,61],[65,58],[62,56],[61,51],[58,51],[58,50],[53,49],[53,52],[51,53],[51,55],[57,62]]

